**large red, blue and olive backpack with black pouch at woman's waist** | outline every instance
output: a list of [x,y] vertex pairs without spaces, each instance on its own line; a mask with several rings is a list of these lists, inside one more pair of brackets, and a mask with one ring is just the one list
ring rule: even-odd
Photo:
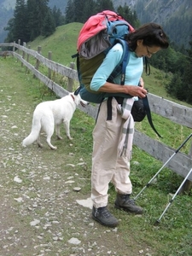
[[[133,31],[134,28],[121,15],[113,11],[105,10],[97,15],[90,16],[79,32],[78,54],[73,55],[73,57],[77,56],[80,84],[74,92],[75,94],[80,93],[85,101],[94,103],[101,103],[105,97],[110,96],[131,97],[123,93],[113,94],[90,90],[90,81],[108,51],[112,49],[114,44],[119,43],[122,45],[123,55],[119,65],[110,74],[108,81],[113,83],[113,79],[121,74],[120,84],[125,84],[125,69],[129,61],[129,47],[125,41],[125,36]],[[147,96],[134,102],[131,113],[135,121],[142,121],[147,114],[149,124],[160,137],[151,119]]]

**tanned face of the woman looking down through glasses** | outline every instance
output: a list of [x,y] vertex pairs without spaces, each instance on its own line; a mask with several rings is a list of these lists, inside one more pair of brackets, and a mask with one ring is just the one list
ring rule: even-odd
[[143,45],[143,40],[137,40],[137,48],[135,50],[135,53],[137,57],[148,57],[150,58],[152,55],[154,55],[156,52],[160,50],[159,46],[147,46]]

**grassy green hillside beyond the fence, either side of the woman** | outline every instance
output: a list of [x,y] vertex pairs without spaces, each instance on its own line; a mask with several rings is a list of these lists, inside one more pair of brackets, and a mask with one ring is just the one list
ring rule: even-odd
[[[82,26],[83,24],[81,23],[69,23],[64,26],[59,26],[50,37],[38,37],[27,45],[30,45],[31,49],[34,50],[37,50],[38,46],[41,46],[42,55],[44,55],[44,57],[48,57],[49,51],[51,51],[53,61],[69,67],[70,62],[76,62],[76,60],[72,58],[72,55],[77,52],[77,39]],[[143,73],[143,78],[145,80],[145,87],[148,88],[150,93],[162,96],[172,102],[191,107],[191,105],[179,102],[166,94],[165,86],[172,79],[171,73],[167,74],[151,67],[150,76],[146,76],[145,73]]]

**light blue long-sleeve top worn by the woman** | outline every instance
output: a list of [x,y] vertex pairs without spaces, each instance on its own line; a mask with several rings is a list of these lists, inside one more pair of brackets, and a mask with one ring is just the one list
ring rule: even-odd
[[[113,69],[117,67],[123,55],[123,47],[121,44],[115,44],[112,49],[108,51],[102,65],[97,69],[90,82],[91,90],[99,90],[104,85],[113,72]],[[143,58],[137,57],[137,55],[130,51],[130,59],[125,70],[125,85],[138,85],[139,80],[143,73]],[[115,84],[120,84],[120,75],[113,81]]]

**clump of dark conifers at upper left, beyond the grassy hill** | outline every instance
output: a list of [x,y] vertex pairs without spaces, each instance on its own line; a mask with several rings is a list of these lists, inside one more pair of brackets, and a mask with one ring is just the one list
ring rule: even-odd
[[29,42],[40,35],[48,37],[55,32],[55,22],[61,25],[61,11],[54,9],[52,12],[48,3],[49,0],[16,0],[14,18],[4,28],[9,31],[6,42],[18,39],[21,43]]

